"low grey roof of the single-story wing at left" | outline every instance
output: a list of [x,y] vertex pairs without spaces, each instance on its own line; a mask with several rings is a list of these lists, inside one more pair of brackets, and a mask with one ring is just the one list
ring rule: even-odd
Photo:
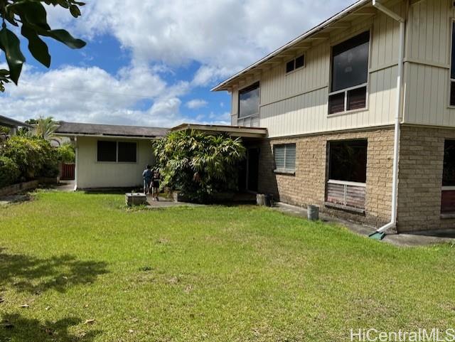
[[75,122],[61,122],[55,134],[63,136],[92,136],[92,137],[131,137],[157,138],[164,137],[167,128],[119,126],[114,124],[81,124]]

